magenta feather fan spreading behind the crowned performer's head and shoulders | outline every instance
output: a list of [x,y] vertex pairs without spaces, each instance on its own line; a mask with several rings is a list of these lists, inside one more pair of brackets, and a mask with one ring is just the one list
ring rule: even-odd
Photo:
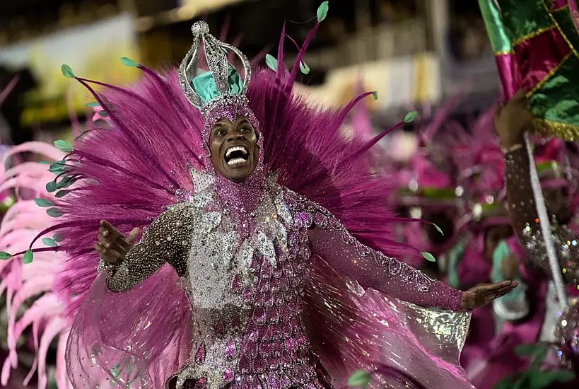
[[[299,68],[310,39],[294,68]],[[280,50],[278,60],[281,57]],[[178,201],[180,191],[194,190],[189,168],[203,168],[199,154],[204,122],[183,95],[175,71],[161,77],[139,67],[144,77],[131,88],[78,79],[95,95],[110,126],[76,141],[69,158],[77,158],[80,165],[71,166],[66,175],[81,179],[57,204],[64,213],[61,248],[69,260],[57,275],[56,289],[70,319],[97,274],[93,244],[100,220],[111,221],[124,233],[146,227],[165,206]],[[366,144],[341,136],[353,105],[344,110],[312,108],[293,95],[296,74],[296,69],[290,72],[283,66],[275,72],[256,69],[247,93],[264,136],[267,167],[279,172],[281,185],[332,211],[363,243],[393,256],[412,252],[387,238],[391,187],[370,172],[361,155]],[[95,93],[90,84],[105,86],[105,91]]]

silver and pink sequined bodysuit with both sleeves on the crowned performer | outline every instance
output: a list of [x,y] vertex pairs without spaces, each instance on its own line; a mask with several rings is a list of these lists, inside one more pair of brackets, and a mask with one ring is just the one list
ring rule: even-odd
[[302,320],[303,281],[315,258],[392,297],[460,309],[462,292],[358,243],[320,205],[272,180],[263,186],[265,195],[240,221],[207,185],[107,266],[113,291],[130,289],[166,262],[180,275],[192,310],[192,352],[171,387],[331,387]]

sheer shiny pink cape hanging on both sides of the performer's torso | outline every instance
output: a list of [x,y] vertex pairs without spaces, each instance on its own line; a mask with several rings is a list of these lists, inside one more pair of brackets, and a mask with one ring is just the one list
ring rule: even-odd
[[[458,363],[469,313],[365,291],[320,257],[312,258],[305,284],[303,322],[334,388],[345,388],[359,370],[373,389],[472,388]],[[69,336],[71,383],[76,389],[163,389],[189,356],[190,316],[171,267],[123,293],[109,291],[101,274]]]

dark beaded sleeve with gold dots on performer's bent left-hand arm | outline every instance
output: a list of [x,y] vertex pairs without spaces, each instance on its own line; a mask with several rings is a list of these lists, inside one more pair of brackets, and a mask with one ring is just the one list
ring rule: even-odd
[[103,265],[107,270],[107,287],[111,291],[127,291],[155,274],[165,263],[172,265],[177,274],[184,274],[191,232],[187,226],[190,224],[185,204],[160,214],[127,255],[115,265]]

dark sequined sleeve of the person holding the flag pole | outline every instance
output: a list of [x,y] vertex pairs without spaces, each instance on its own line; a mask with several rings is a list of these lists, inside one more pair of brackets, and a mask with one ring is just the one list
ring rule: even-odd
[[[505,153],[505,182],[508,211],[517,238],[533,265],[551,273],[546,247],[542,238],[539,216],[535,207],[530,177],[530,161],[527,150],[522,147]],[[579,281],[579,236],[567,226],[558,226],[553,219],[551,238],[555,240],[558,259],[567,284]]]

